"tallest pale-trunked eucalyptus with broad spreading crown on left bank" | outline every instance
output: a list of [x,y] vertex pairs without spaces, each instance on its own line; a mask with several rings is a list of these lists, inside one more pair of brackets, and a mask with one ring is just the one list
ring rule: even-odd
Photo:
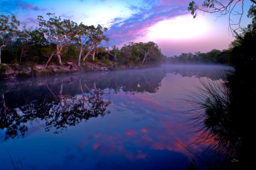
[[56,44],[56,55],[61,64],[60,53],[64,46],[68,46],[71,42],[75,41],[77,32],[77,24],[69,19],[57,18],[53,13],[47,13],[49,20],[46,21],[42,16],[38,16],[39,30],[41,30],[50,41]]

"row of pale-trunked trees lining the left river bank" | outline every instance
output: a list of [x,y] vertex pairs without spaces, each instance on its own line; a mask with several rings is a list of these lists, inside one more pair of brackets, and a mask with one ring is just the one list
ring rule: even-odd
[[47,13],[46,20],[38,16],[39,26],[23,26],[18,30],[20,21],[12,14],[0,15],[0,64],[32,63],[62,64],[62,62],[84,61],[119,65],[158,64],[165,57],[156,43],[129,42],[120,50],[109,46],[112,40],[108,28],[79,25],[69,19]]

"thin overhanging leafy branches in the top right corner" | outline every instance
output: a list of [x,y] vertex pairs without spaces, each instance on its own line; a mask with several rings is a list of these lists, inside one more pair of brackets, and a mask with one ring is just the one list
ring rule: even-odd
[[[250,0],[253,4],[256,4],[255,0]],[[242,4],[242,5],[239,5]],[[196,18],[197,13],[196,10],[203,11],[204,13],[212,13],[216,14],[217,18],[222,17],[224,15],[228,15],[229,18],[229,26],[232,35],[234,35],[234,31],[240,28],[241,18],[244,14],[243,11],[244,0],[229,0],[229,1],[221,1],[221,0],[205,0],[202,4],[202,7],[199,7],[194,1],[189,2],[188,11],[191,11],[193,18]],[[237,22],[233,22],[233,17],[238,17]],[[231,27],[237,25],[236,29],[232,29]]]

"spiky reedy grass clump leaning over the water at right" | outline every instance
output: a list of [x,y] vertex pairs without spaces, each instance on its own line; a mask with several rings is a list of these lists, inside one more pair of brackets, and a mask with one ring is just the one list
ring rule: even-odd
[[201,85],[195,85],[196,90],[184,89],[185,103],[188,109],[185,113],[191,116],[182,123],[198,138],[188,146],[202,145],[201,156],[214,159],[216,167],[229,164],[229,160],[237,159],[242,136],[236,128],[235,97],[227,85],[226,76],[218,80],[201,79]]

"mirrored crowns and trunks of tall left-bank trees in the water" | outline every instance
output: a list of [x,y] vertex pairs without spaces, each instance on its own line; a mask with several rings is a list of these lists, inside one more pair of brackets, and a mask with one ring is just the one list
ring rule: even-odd
[[[77,84],[76,84],[77,85]],[[27,122],[31,124],[38,120],[44,120],[45,131],[49,131],[52,127],[59,133],[67,126],[75,126],[83,120],[89,120],[91,117],[109,114],[106,111],[111,100],[108,97],[110,89],[97,89],[94,83],[93,88],[89,88],[84,84],[87,93],[84,93],[81,80],[79,80],[79,88],[82,95],[68,94],[73,90],[70,85],[52,85],[49,87],[44,82],[44,87],[35,87],[35,89],[22,89],[16,96],[13,92],[8,94],[19,100],[20,103],[9,103],[9,107],[5,104],[4,92],[1,91],[1,129],[6,128],[4,140],[15,137],[25,137],[28,127],[24,125]],[[59,91],[57,91],[59,86]],[[69,88],[69,89],[68,89]],[[54,89],[54,90],[53,90]],[[24,92],[25,91],[25,92]],[[57,91],[57,92],[56,92]],[[66,91],[66,94],[63,92]],[[69,92],[68,92],[69,91]],[[25,93],[25,94],[24,94]],[[40,94],[39,94],[40,93]]]

